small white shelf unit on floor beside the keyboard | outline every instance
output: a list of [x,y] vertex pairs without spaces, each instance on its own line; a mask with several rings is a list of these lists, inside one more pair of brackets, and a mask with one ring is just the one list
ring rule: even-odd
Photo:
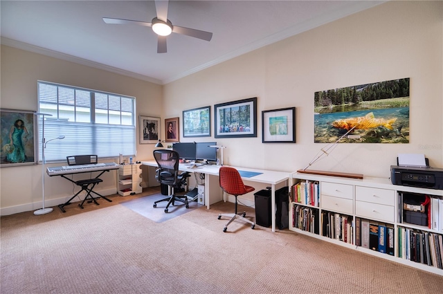
[[120,165],[118,168],[118,194],[134,195],[143,192],[141,163]]

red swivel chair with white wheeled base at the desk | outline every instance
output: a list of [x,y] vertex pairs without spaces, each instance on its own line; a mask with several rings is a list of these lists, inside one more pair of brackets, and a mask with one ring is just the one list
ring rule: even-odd
[[220,167],[219,182],[224,192],[235,196],[235,213],[219,214],[219,219],[221,219],[221,217],[231,218],[230,221],[226,223],[226,226],[224,226],[223,232],[228,230],[228,225],[232,223],[234,219],[241,219],[242,221],[246,221],[246,223],[251,223],[251,229],[254,229],[255,223],[245,218],[246,212],[237,213],[237,196],[253,192],[255,190],[254,187],[244,185],[239,172],[233,167]]

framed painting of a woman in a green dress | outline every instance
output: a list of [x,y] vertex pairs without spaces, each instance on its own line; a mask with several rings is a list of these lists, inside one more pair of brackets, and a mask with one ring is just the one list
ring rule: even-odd
[[0,109],[0,167],[35,164],[34,111]]

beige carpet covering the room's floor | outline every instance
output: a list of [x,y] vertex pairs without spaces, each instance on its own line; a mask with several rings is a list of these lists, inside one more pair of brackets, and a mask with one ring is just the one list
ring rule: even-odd
[[1,217],[1,293],[442,293],[439,275],[289,230],[224,233],[233,203],[156,223],[110,198]]

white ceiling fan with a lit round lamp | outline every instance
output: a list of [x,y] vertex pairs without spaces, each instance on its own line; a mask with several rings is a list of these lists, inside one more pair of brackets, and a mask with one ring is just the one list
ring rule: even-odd
[[196,30],[195,28],[185,28],[183,26],[173,26],[168,19],[168,0],[156,0],[155,7],[157,17],[152,19],[152,22],[136,21],[130,19],[114,19],[111,17],[103,17],[103,21],[107,24],[135,24],[138,26],[150,26],[154,33],[158,35],[157,53],[166,53],[166,37],[171,33],[187,35],[205,41],[210,41],[213,33],[205,32],[204,30]]

